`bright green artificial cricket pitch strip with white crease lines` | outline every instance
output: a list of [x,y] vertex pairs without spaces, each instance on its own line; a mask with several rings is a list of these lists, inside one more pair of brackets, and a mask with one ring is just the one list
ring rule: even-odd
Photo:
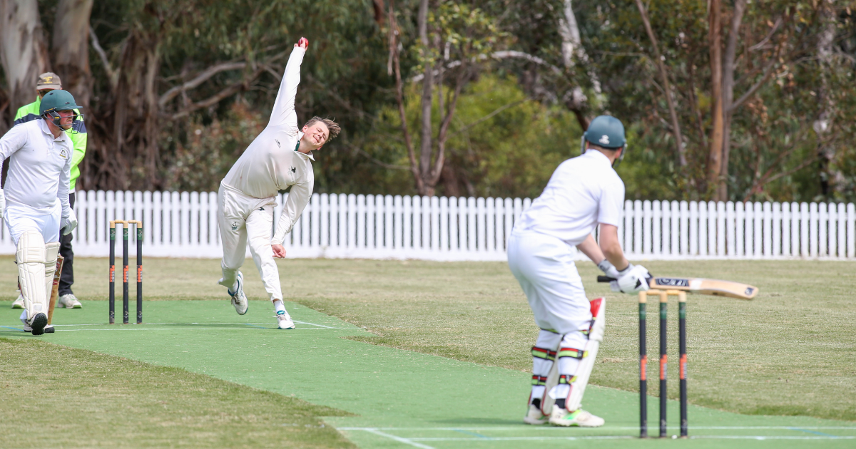
[[[354,413],[326,422],[360,447],[575,447],[591,440],[601,447],[666,444],[633,439],[638,434],[633,393],[588,388],[586,408],[606,419],[603,428],[525,426],[520,418],[529,388],[526,373],[348,340],[372,334],[300,304],[287,304],[298,322],[289,331],[273,328],[272,309],[262,301],[252,301],[246,316],[235,315],[225,300],[145,305],[146,323],[125,326],[104,324],[103,301],[85,302],[82,310],[57,310],[56,334],[39,339],[187,369]],[[19,330],[19,313],[0,302],[0,337],[37,338]],[[657,399],[649,404],[654,433]],[[670,402],[670,434],[676,433],[677,417],[676,403]],[[856,446],[853,422],[744,416],[698,406],[690,406],[689,418],[693,439],[669,445]]]

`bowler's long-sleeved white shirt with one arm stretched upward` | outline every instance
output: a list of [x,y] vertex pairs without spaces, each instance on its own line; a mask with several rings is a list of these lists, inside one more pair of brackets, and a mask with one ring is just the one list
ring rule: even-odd
[[294,97],[300,85],[300,62],[306,50],[295,47],[288,57],[285,74],[276,102],[270,112],[270,121],[265,130],[247,147],[223,184],[253,198],[276,197],[276,193],[291,187],[282,215],[276,225],[271,242],[282,245],[285,234],[291,232],[294,222],[312,197],[315,174],[312,172],[312,154],[296,151],[303,133],[297,126]]

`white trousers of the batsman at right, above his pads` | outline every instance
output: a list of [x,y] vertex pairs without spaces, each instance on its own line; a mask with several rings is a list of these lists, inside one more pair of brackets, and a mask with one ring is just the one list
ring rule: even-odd
[[513,231],[508,268],[526,293],[538,328],[557,334],[588,329],[591,303],[574,265],[573,247],[532,231]]

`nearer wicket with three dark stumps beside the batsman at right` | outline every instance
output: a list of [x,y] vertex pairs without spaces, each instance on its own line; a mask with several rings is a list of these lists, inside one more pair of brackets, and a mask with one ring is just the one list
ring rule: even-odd
[[666,435],[666,318],[669,296],[678,297],[678,346],[681,355],[681,438],[687,437],[687,292],[679,290],[649,290],[639,292],[639,437],[648,436],[648,355],[645,350],[645,305],[648,296],[660,297],[660,438]]

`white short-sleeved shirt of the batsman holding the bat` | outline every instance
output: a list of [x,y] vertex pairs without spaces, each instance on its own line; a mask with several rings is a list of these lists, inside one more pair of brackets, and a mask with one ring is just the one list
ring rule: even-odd
[[624,182],[609,158],[597,150],[559,164],[541,196],[514,224],[514,231],[535,231],[580,245],[598,223],[618,226]]

